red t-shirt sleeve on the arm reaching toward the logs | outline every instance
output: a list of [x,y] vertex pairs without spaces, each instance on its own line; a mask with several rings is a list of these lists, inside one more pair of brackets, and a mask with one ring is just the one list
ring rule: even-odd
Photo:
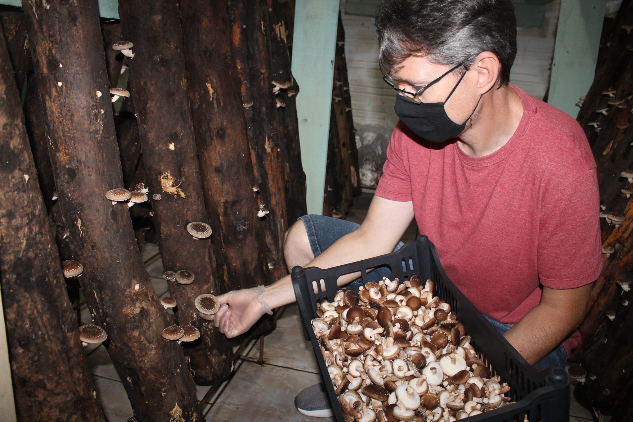
[[382,166],[382,176],[375,194],[391,201],[411,201],[411,178],[403,159],[403,133],[396,127],[387,145],[387,160]]

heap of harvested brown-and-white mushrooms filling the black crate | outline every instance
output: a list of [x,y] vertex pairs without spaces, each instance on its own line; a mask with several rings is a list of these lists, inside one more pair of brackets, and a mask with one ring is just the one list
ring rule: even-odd
[[455,421],[510,402],[451,306],[419,276],[323,302],[311,321],[346,422]]

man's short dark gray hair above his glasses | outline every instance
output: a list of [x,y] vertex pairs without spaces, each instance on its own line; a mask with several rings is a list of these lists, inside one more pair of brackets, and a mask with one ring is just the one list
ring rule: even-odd
[[480,53],[491,51],[501,63],[499,85],[510,82],[517,55],[517,18],[511,0],[383,0],[374,22],[385,75],[413,55],[468,68]]

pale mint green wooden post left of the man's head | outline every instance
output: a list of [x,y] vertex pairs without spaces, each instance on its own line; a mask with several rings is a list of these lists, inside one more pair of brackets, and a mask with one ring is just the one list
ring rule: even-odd
[[323,213],[338,16],[339,0],[297,0],[295,6],[292,75],[299,84],[299,140],[310,214]]

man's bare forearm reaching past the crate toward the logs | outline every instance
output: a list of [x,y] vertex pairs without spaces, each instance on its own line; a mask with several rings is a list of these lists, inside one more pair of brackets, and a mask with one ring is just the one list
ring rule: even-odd
[[[387,250],[382,242],[367,240],[356,230],[336,240],[329,248],[305,266],[332,268],[389,253],[394,246]],[[360,277],[360,271],[342,275],[338,280],[338,284],[339,286],[346,285],[358,277]],[[277,282],[266,287],[266,292],[262,299],[270,306],[270,309],[294,302],[296,299],[290,275],[280,278]]]

